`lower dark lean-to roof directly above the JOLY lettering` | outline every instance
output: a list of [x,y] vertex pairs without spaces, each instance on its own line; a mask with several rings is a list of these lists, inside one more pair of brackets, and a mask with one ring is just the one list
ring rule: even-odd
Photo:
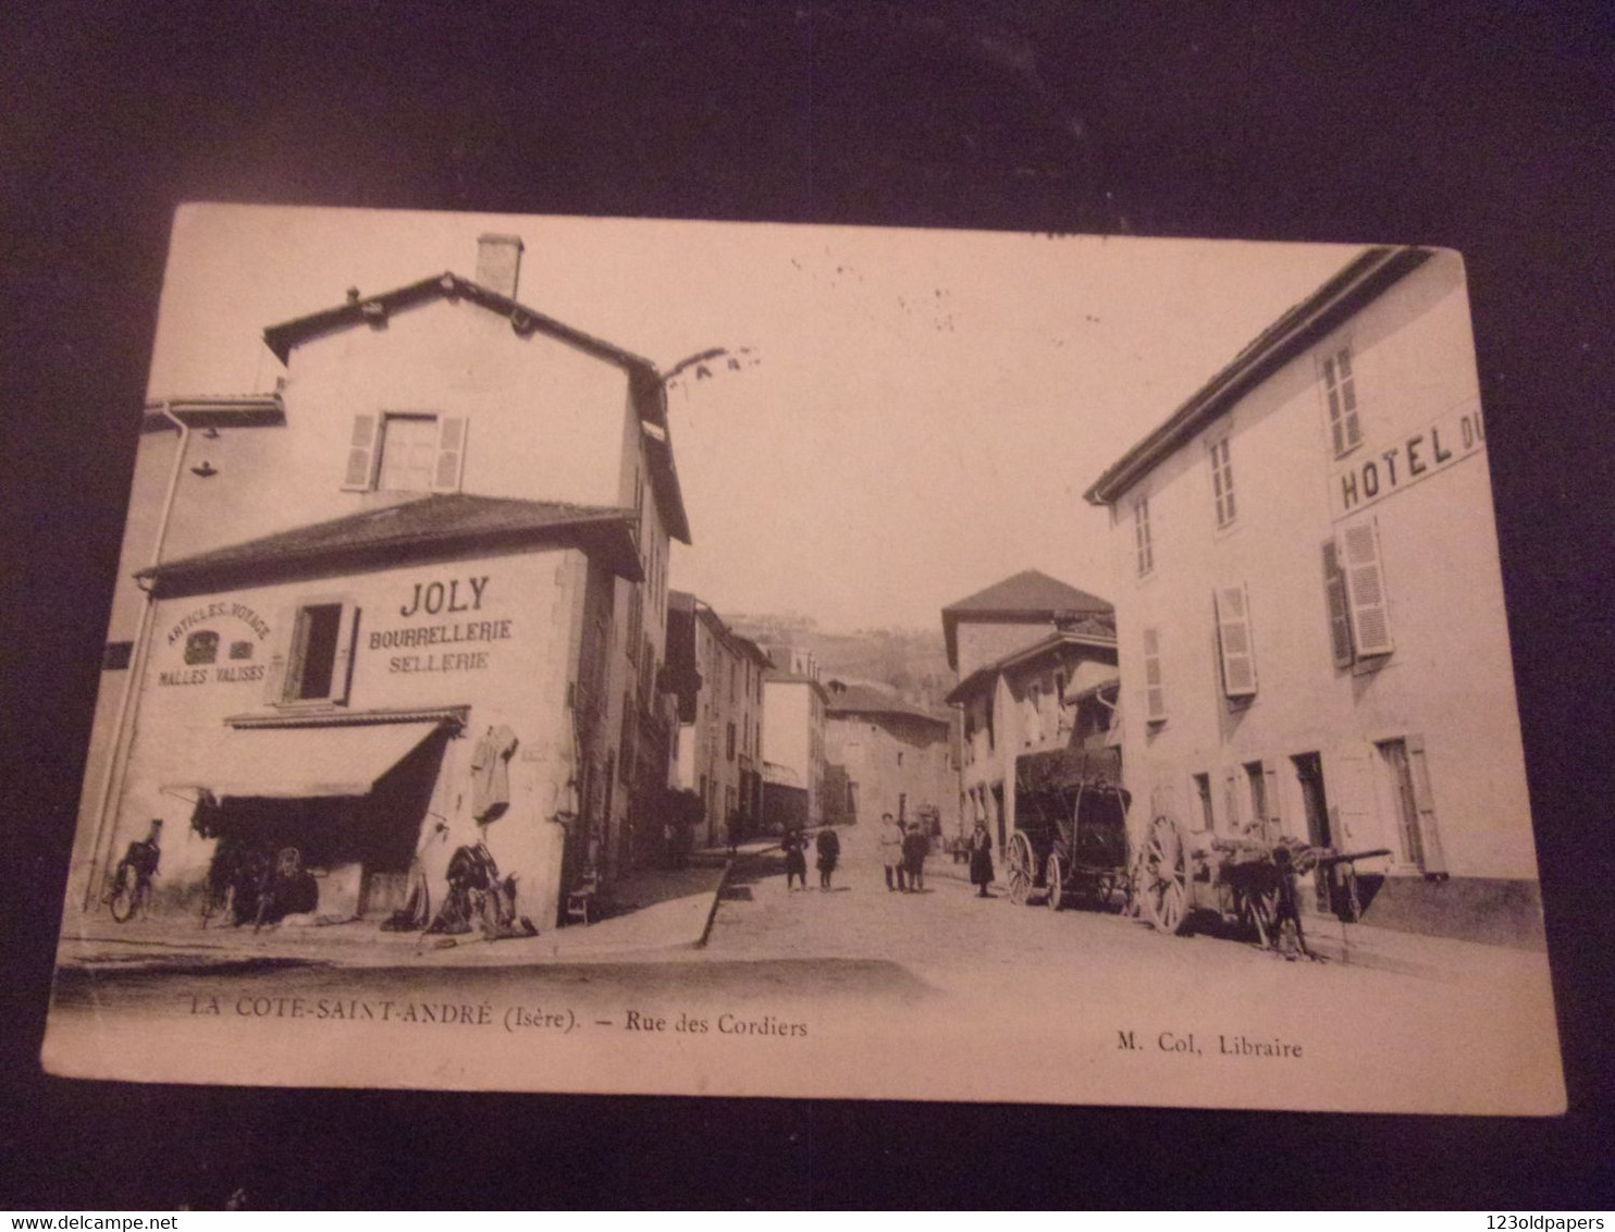
[[397,505],[216,547],[142,568],[157,596],[257,586],[344,568],[375,568],[451,552],[501,547],[580,547],[628,581],[643,580],[633,543],[633,510],[514,501],[489,496],[423,496]]

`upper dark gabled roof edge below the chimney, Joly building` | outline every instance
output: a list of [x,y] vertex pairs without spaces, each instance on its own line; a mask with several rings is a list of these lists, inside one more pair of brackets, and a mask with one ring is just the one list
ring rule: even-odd
[[378,295],[359,295],[349,299],[336,308],[313,312],[297,316],[281,325],[271,325],[263,331],[263,342],[270,350],[287,363],[292,349],[310,339],[349,329],[355,325],[371,325],[384,321],[399,308],[410,308],[433,300],[467,300],[488,312],[510,318],[510,328],[518,337],[528,334],[547,334],[567,346],[577,347],[586,355],[593,355],[606,363],[614,363],[628,375],[628,389],[633,396],[635,409],[644,433],[644,449],[651,460],[652,491],[656,507],[667,523],[667,531],[682,543],[690,543],[690,517],[685,512],[685,497],[678,484],[678,470],[673,465],[673,444],[667,426],[667,389],[656,365],[643,355],[635,355],[612,342],[575,329],[565,321],[518,304],[509,295],[489,291],[480,283],[460,278],[447,271],[423,278],[418,283],[383,291]]

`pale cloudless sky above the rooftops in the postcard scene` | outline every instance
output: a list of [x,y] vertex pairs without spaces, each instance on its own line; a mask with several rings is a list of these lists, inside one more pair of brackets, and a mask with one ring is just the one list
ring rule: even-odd
[[517,299],[657,363],[724,615],[935,628],[1024,568],[1108,597],[1082,492],[1357,245],[308,207],[176,215],[150,397],[262,392],[263,329],[522,236]]

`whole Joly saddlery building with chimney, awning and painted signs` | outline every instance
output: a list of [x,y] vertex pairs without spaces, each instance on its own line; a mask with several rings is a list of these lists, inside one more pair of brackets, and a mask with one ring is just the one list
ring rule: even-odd
[[376,919],[422,878],[438,901],[483,844],[547,927],[585,864],[652,849],[688,541],[665,396],[648,360],[517,302],[520,254],[486,236],[476,281],[266,329],[273,396],[149,409],[84,909],[153,817],[171,912],[226,848],[297,848],[321,916]]

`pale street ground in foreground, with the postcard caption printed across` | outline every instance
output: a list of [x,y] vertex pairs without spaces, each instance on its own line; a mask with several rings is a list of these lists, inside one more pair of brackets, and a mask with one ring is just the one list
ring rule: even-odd
[[[875,830],[840,835],[828,893],[812,853],[809,888],[788,891],[783,853],[745,849],[703,948],[459,967],[63,967],[47,1064],[115,1012],[126,1054],[153,1077],[178,1048],[186,1072],[234,1082],[313,1064],[344,1085],[430,1072],[426,1085],[515,1090],[1365,1109],[1466,1092],[1455,1111],[1536,1082],[1518,1058],[1552,1030],[1537,953],[1318,920],[1324,961],[1286,961],[1114,909],[1017,906],[1001,886],[982,899],[945,856],[922,893],[888,891]],[[1460,1020],[1483,1025],[1450,1030]],[[1495,1090],[1462,1085],[1476,1066]]]

